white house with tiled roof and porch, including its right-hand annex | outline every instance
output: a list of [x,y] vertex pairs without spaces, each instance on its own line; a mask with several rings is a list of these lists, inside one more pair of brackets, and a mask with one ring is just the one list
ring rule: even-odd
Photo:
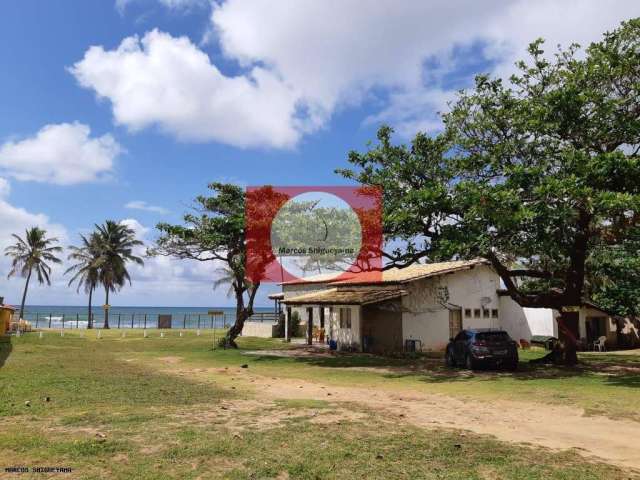
[[[515,340],[558,337],[559,313],[520,307],[484,260],[416,264],[384,271],[381,281],[362,278],[300,279],[284,283],[273,297],[286,305],[287,318],[298,312],[308,339],[322,331],[339,349],[441,350],[458,331],[473,327],[504,329]],[[611,346],[617,343],[617,320],[607,312],[585,303],[573,314],[566,331],[585,344],[600,336]]]

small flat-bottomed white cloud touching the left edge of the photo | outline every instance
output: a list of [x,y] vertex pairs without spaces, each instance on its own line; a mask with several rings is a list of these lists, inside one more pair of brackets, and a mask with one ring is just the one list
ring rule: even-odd
[[0,146],[0,172],[18,180],[72,185],[104,178],[122,152],[107,134],[81,123],[45,125],[32,137]]

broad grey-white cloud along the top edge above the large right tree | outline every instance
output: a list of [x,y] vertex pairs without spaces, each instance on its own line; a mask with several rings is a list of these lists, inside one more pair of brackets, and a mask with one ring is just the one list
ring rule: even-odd
[[[538,37],[549,49],[587,44],[639,14],[634,0],[607,8],[599,0],[228,0],[214,8],[212,22],[229,58],[268,65],[308,102],[317,122],[384,87],[389,101],[368,121],[414,134],[439,125],[434,113],[452,98],[444,83],[461,67],[455,48],[482,45],[493,73],[506,76]],[[470,84],[472,74],[466,77]]]

